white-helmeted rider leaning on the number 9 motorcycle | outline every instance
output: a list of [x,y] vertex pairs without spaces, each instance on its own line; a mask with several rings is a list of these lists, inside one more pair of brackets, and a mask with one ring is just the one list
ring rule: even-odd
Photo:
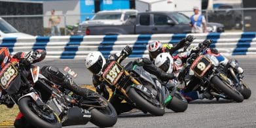
[[[211,42],[212,40],[204,40],[204,42],[201,42],[200,44],[198,44],[198,47],[191,48],[191,50],[189,50],[188,52],[184,52],[182,54],[185,54],[185,56],[189,57],[193,52],[198,52],[200,48],[204,47],[206,48],[206,50],[204,50],[202,54],[211,54],[218,59],[220,64],[226,66],[229,60],[226,57],[219,54],[216,48],[208,48]],[[174,62],[172,59],[173,57],[170,56],[169,54],[164,54],[164,53],[159,54],[156,57],[155,65],[156,67],[159,67],[160,69],[168,73],[174,72],[175,76],[177,76],[177,78],[180,80],[185,77],[185,74],[183,72],[184,70],[182,70],[183,66],[181,66],[181,64],[183,65],[183,63],[186,63],[186,62],[183,61],[182,63],[177,63],[177,61]],[[238,74],[242,74],[243,72],[242,68],[238,67],[237,69],[238,70],[236,71],[238,72]],[[181,93],[185,96],[187,101],[193,101],[196,99],[204,99],[204,98],[207,98],[207,99],[212,98],[211,95],[207,92],[200,93],[199,91],[192,91],[194,86],[196,86],[196,84],[198,84],[199,82],[200,81],[198,80],[198,78],[196,77],[191,78],[191,81],[189,82],[189,84],[185,86],[185,88],[181,89]]]

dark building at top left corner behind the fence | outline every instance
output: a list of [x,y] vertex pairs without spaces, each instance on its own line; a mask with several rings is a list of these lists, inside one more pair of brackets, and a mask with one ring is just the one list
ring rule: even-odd
[[0,16],[20,32],[43,35],[43,17],[13,17],[41,14],[43,14],[43,2],[41,1],[0,0]]

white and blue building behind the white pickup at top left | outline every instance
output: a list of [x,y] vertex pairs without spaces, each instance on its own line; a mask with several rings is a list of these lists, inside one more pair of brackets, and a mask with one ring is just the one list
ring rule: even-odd
[[[40,0],[34,0],[40,1]],[[61,27],[83,22],[86,18],[92,18],[100,10],[117,10],[130,8],[130,0],[41,0],[43,2],[43,14],[50,15],[54,9],[61,16]],[[48,27],[48,17],[44,18],[44,26]]]

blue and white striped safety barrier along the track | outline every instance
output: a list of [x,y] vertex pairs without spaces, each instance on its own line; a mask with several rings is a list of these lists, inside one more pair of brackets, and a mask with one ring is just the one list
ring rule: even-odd
[[[0,38],[0,46],[9,47],[10,52],[28,52],[35,49],[47,51],[51,59],[84,59],[92,51],[100,51],[104,56],[120,52],[124,46],[133,48],[130,57],[147,57],[147,44],[152,40],[175,44],[189,34],[157,35],[91,35],[33,38]],[[191,34],[196,37],[192,46],[205,39],[213,39],[211,47],[217,48],[225,55],[256,54],[256,33],[202,33]]]

